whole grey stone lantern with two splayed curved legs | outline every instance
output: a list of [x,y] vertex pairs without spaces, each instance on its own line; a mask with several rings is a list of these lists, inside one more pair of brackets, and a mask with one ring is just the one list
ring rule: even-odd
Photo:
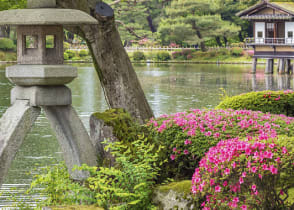
[[17,28],[18,62],[6,68],[6,77],[16,86],[11,90],[12,105],[0,119],[0,186],[41,109],[72,177],[87,176],[73,172],[74,165],[96,165],[95,149],[65,86],[77,77],[77,69],[63,65],[63,26],[87,24],[97,21],[79,10],[57,9],[55,0],[28,0],[28,9],[0,12],[0,25]]

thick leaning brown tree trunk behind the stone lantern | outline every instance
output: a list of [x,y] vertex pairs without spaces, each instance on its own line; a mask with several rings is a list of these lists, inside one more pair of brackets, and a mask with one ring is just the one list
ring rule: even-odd
[[91,51],[106,101],[111,108],[124,108],[143,123],[153,117],[143,89],[115,26],[114,17],[94,12],[96,1],[57,0],[62,8],[80,9],[97,19],[98,25],[77,29]]

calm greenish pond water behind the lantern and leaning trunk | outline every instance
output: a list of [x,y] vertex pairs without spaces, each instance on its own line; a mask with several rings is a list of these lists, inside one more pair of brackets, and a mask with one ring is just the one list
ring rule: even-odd
[[[73,106],[89,129],[91,113],[104,111],[107,105],[93,66],[76,66],[79,77],[69,87],[73,93]],[[190,108],[213,108],[220,102],[220,88],[230,96],[265,89],[293,89],[292,75],[264,75],[264,66],[260,66],[257,74],[252,75],[250,68],[251,65],[135,65],[155,116]],[[12,87],[5,78],[5,66],[0,66],[0,117],[10,105]],[[0,209],[15,203],[15,200],[26,201],[26,197],[18,191],[28,187],[34,174],[58,161],[62,161],[62,153],[47,119],[41,114],[21,146],[0,190]]]

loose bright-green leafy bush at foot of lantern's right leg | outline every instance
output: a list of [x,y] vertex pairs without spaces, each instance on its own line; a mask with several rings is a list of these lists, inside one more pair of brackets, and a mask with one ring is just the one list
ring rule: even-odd
[[46,195],[40,206],[78,203],[113,210],[153,209],[152,189],[160,170],[157,153],[161,147],[157,147],[154,153],[155,145],[148,143],[144,136],[134,139],[130,146],[134,153],[122,142],[108,145],[107,149],[116,157],[116,167],[83,165],[77,168],[90,173],[84,182],[74,182],[64,166],[54,166],[36,176],[30,192],[37,190],[40,193],[38,190],[41,189]]

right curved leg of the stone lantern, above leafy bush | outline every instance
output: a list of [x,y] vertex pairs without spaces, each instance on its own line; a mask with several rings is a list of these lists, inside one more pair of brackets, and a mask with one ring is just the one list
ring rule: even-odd
[[87,178],[88,174],[75,170],[75,165],[97,165],[96,152],[90,137],[71,105],[42,107],[59,141],[71,177],[77,180]]

